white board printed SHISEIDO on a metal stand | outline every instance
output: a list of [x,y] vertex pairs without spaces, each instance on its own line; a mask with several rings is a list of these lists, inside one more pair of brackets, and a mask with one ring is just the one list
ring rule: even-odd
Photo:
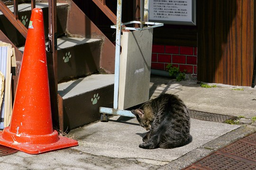
[[118,109],[149,99],[153,29],[123,32],[120,55]]

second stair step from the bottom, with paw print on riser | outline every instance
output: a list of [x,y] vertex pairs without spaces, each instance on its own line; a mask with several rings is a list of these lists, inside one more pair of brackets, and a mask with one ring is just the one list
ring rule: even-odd
[[[97,73],[100,68],[101,43],[101,39],[58,38],[58,82]],[[46,50],[47,44],[48,42],[46,42]],[[18,49],[23,53],[24,46]]]

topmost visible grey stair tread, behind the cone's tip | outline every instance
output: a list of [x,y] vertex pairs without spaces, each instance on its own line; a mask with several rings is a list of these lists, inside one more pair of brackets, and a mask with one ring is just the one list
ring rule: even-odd
[[[61,6],[61,5],[67,5],[67,3],[57,3],[57,6]],[[7,7],[11,10],[11,12],[14,12],[13,5],[8,5]],[[36,8],[48,8],[48,3],[36,2]],[[31,10],[31,3],[18,4],[18,12],[23,12],[28,10]],[[3,15],[3,13],[0,12],[0,15]]]

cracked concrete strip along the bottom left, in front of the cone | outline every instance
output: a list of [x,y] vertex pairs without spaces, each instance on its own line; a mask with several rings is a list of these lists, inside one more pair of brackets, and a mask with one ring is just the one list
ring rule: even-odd
[[113,159],[81,153],[75,148],[30,155],[18,152],[0,157],[4,170],[148,170],[157,166],[135,160]]

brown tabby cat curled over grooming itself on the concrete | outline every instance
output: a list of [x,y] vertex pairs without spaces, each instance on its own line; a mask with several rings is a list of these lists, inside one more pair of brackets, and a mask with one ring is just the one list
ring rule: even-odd
[[192,141],[189,111],[183,101],[173,94],[159,97],[131,110],[140,126],[149,130],[139,147],[144,149],[174,148]]

